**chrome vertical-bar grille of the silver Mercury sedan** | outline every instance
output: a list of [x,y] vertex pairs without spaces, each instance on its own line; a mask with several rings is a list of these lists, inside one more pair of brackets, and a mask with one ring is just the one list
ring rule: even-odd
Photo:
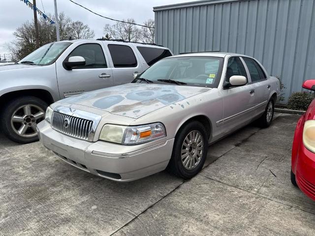
[[92,131],[93,120],[73,117],[54,111],[51,118],[51,126],[53,129],[74,138],[87,141],[92,141],[91,139],[93,139],[93,137],[89,137]]

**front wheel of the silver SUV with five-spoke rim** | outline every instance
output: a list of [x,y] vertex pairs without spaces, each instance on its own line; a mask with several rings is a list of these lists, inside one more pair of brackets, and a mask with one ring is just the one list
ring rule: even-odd
[[37,141],[36,125],[45,118],[47,106],[45,101],[34,96],[17,97],[7,102],[1,115],[2,132],[17,143]]

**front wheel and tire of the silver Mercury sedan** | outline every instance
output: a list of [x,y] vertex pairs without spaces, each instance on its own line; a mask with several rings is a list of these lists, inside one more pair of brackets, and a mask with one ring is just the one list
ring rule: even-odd
[[167,168],[169,172],[189,179],[201,171],[208,152],[209,136],[205,130],[199,121],[192,121],[179,130]]

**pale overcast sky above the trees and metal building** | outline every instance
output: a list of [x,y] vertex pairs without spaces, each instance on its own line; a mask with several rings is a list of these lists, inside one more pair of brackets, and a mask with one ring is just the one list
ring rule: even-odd
[[[0,55],[7,53],[5,43],[14,39],[13,32],[25,21],[33,20],[33,11],[21,0],[0,0]],[[30,0],[32,2],[32,0]],[[154,19],[154,6],[187,2],[189,0],[74,0],[101,15],[122,20],[134,18],[142,24],[147,19]],[[37,7],[46,13],[54,14],[54,0],[36,0]],[[95,38],[101,37],[103,26],[113,21],[101,18],[81,8],[69,0],[57,0],[58,12],[64,12],[72,20],[88,24],[95,32]],[[40,16],[39,16],[40,17]]]

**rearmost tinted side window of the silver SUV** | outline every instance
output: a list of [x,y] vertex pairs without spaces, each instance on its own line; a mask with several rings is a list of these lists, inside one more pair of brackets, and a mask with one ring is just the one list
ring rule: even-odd
[[170,51],[167,49],[140,46],[137,47],[137,49],[149,66],[153,65],[160,59],[172,56]]

